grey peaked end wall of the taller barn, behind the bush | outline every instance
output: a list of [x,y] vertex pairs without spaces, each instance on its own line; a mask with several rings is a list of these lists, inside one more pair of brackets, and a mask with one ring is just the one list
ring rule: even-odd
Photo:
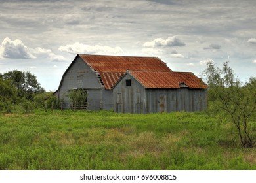
[[63,108],[70,108],[70,100],[66,97],[68,90],[84,88],[87,90],[88,109],[100,109],[102,101],[102,86],[98,82],[95,73],[84,61],[77,57],[71,67],[62,78],[62,83],[56,95],[59,99],[64,99]]

